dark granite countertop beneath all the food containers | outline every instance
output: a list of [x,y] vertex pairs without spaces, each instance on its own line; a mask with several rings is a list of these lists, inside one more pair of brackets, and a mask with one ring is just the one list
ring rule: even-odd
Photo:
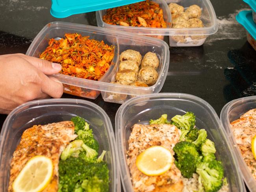
[[[256,52],[235,15],[248,6],[241,0],[211,0],[219,30],[199,47],[170,47],[170,65],[161,92],[193,94],[210,103],[219,115],[236,98],[256,94]],[[50,1],[2,0],[0,2],[0,55],[26,53],[33,38],[49,22],[67,21],[96,26],[95,13],[58,19],[50,15]],[[169,38],[165,37],[169,43]],[[62,98],[79,98],[63,94]],[[81,99],[81,98],[79,98]],[[89,99],[86,99],[89,100]],[[120,104],[89,100],[102,107],[114,127]],[[0,127],[6,115],[0,115]]]

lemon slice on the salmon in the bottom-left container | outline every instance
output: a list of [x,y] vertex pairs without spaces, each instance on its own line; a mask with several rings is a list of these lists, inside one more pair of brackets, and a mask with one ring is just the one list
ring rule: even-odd
[[32,157],[13,182],[14,192],[40,192],[50,183],[53,172],[52,160],[37,155]]

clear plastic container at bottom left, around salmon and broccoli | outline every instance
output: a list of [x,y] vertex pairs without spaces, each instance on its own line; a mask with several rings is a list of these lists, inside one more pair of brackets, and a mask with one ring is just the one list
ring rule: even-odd
[[98,105],[76,99],[32,101],[20,105],[7,116],[0,134],[0,191],[7,191],[11,157],[23,131],[37,124],[70,120],[76,115],[89,122],[99,142],[100,153],[107,151],[105,159],[109,168],[109,191],[120,192],[118,158],[110,119]]

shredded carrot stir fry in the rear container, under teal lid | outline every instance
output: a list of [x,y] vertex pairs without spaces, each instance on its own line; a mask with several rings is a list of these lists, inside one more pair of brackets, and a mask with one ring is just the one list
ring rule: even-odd
[[150,0],[108,9],[103,21],[111,25],[166,28],[163,10]]

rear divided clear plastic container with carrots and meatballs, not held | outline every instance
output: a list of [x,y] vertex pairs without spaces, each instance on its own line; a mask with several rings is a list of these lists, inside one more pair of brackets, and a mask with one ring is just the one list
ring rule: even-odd
[[[107,9],[96,11],[97,25],[104,28],[128,31],[140,35],[162,36],[169,35],[170,46],[200,46],[204,43],[208,35],[217,32],[217,18],[210,0],[153,0],[160,4],[163,9],[163,17],[167,21],[167,28],[142,28],[142,27],[127,27],[106,24],[102,20],[102,16],[106,14]],[[167,3],[177,3],[185,9],[193,4],[198,5],[202,9],[201,20],[204,28],[171,28],[169,22],[172,22],[171,11]],[[187,42],[176,42],[172,36],[186,36]],[[192,36],[192,38],[191,38]],[[162,37],[161,37],[162,38]]]

